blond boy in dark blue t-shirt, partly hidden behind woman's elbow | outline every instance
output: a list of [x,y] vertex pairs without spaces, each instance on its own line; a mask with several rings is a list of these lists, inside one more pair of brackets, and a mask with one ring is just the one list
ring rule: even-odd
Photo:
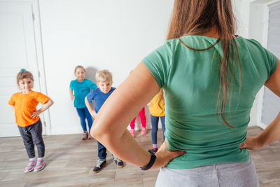
[[[108,70],[97,71],[95,76],[97,80],[97,86],[95,90],[92,90],[87,97],[85,97],[85,105],[87,106],[90,115],[95,118],[101,106],[104,104],[106,99],[111,95],[111,93],[116,90],[116,88],[112,87],[113,78],[112,74]],[[95,101],[95,111],[92,109],[92,105],[90,104],[92,100]],[[97,165],[93,168],[92,172],[98,173],[101,169],[106,165],[106,147],[100,144],[97,141],[98,145],[98,157]],[[117,167],[123,167],[123,161],[114,157],[113,160],[116,162]]]

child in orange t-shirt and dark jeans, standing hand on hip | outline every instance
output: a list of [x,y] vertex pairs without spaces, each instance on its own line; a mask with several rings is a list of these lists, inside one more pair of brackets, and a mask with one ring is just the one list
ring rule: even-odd
[[[33,75],[22,69],[17,76],[17,82],[21,92],[17,92],[10,97],[8,104],[15,111],[15,123],[18,124],[18,129],[22,135],[29,162],[25,167],[25,172],[41,171],[45,167],[45,144],[42,137],[42,123],[39,114],[48,109],[53,101],[50,97],[43,95],[41,92],[34,92]],[[38,103],[44,104],[41,109],[36,109]],[[36,145],[38,150],[38,159],[35,157]]]

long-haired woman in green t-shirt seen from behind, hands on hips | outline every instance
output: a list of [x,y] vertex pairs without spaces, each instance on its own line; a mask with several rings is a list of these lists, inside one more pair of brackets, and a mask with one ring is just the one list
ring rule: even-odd
[[[167,41],[109,97],[92,136],[125,162],[162,167],[155,186],[259,186],[242,143],[262,85],[280,96],[280,62],[257,41],[235,36],[234,22],[229,0],[175,0]],[[152,155],[127,123],[160,88],[166,139]]]

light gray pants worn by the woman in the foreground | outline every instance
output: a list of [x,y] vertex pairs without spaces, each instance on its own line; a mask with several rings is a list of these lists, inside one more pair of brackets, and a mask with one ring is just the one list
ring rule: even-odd
[[251,158],[246,162],[206,165],[194,169],[167,169],[162,167],[156,187],[258,187],[258,176]]

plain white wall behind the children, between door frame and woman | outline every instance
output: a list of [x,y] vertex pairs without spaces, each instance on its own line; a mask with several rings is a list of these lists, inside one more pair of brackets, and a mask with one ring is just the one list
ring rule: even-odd
[[55,101],[50,108],[51,134],[82,131],[69,98],[74,67],[83,65],[94,82],[96,71],[109,69],[113,86],[118,87],[143,57],[165,41],[173,4],[170,0],[39,1],[46,86]]

